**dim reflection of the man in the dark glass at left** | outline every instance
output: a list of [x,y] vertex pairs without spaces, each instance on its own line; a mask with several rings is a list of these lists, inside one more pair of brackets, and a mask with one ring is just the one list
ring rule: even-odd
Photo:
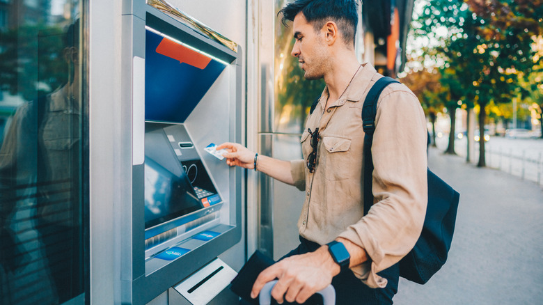
[[[63,38],[58,58],[65,63],[65,84],[17,109],[0,150],[1,266],[11,274],[45,269],[58,303],[83,292],[79,20]],[[38,252],[45,260],[36,261]],[[0,301],[29,302],[15,282],[39,288],[39,281],[22,275],[12,281],[12,296]]]

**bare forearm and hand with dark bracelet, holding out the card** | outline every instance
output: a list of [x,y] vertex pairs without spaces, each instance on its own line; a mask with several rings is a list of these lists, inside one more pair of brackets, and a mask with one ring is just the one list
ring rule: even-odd
[[[217,146],[217,150],[228,150],[223,154],[226,157],[226,164],[230,166],[240,166],[244,169],[254,169],[255,153],[238,143],[222,143]],[[270,177],[284,182],[288,185],[294,185],[294,179],[290,171],[290,162],[263,155],[258,155],[256,160],[256,169],[269,175]]]

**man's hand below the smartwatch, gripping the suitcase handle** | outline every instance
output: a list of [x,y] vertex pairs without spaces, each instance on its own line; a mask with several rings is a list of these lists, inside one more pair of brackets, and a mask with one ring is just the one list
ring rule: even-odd
[[329,286],[333,276],[339,273],[340,266],[333,261],[328,247],[323,246],[315,252],[285,258],[262,271],[253,285],[251,297],[257,297],[265,283],[278,279],[272,297],[279,304],[283,304],[283,296],[288,302],[304,303]]

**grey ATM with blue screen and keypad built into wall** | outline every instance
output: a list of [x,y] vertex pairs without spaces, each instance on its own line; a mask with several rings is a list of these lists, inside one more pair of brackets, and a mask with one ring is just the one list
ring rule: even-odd
[[241,239],[241,171],[206,148],[241,141],[242,50],[165,0],[125,0],[122,52],[132,205],[120,299],[231,304],[236,272],[217,257]]

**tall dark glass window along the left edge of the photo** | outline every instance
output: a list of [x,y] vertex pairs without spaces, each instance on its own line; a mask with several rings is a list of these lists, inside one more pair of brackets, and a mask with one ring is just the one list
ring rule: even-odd
[[88,295],[83,6],[0,1],[0,304]]

